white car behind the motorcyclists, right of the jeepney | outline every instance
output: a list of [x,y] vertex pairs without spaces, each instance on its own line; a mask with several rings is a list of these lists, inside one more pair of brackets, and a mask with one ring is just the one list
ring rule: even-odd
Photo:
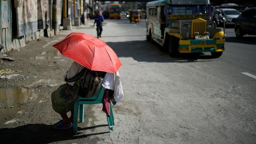
[[221,9],[214,9],[212,12],[212,17],[214,17],[217,10],[221,11],[221,15],[226,19],[226,25],[235,25],[235,22],[232,22],[232,19],[236,19],[240,12],[236,9],[228,9],[228,8],[221,8]]

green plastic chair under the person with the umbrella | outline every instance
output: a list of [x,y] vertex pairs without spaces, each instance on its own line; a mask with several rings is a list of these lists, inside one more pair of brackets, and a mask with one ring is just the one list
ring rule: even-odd
[[[79,116],[80,120],[79,120],[79,122],[83,123],[84,122],[84,104],[89,104],[89,105],[102,104],[103,103],[102,98],[103,98],[104,91],[105,91],[105,88],[102,86],[102,87],[100,87],[100,90],[96,95],[94,95],[90,98],[79,97],[76,100],[76,102],[74,104],[74,120],[73,120],[73,132],[74,132],[74,134],[77,134],[78,106],[80,107],[79,108],[79,110],[80,110],[80,116]],[[114,114],[113,114],[111,103],[110,103],[110,116],[108,117],[108,115],[107,115],[107,120],[108,120],[109,132],[112,132],[113,131],[113,125],[115,125],[115,122],[114,122],[115,119],[114,119]]]

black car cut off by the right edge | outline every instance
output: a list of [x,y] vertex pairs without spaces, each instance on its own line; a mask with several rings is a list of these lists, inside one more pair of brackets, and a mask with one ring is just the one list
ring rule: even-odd
[[256,35],[256,7],[244,10],[235,22],[236,37]]

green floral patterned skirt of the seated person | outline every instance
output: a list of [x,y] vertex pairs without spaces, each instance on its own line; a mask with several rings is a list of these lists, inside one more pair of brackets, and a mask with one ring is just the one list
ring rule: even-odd
[[79,98],[78,90],[81,79],[71,86],[62,84],[57,90],[52,92],[52,108],[59,114],[66,114],[73,110],[75,101]]

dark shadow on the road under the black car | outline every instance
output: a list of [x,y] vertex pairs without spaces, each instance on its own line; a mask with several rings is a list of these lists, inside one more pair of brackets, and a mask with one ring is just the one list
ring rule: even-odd
[[237,37],[225,37],[226,42],[241,43],[241,44],[256,44],[256,36],[245,36],[241,38]]

